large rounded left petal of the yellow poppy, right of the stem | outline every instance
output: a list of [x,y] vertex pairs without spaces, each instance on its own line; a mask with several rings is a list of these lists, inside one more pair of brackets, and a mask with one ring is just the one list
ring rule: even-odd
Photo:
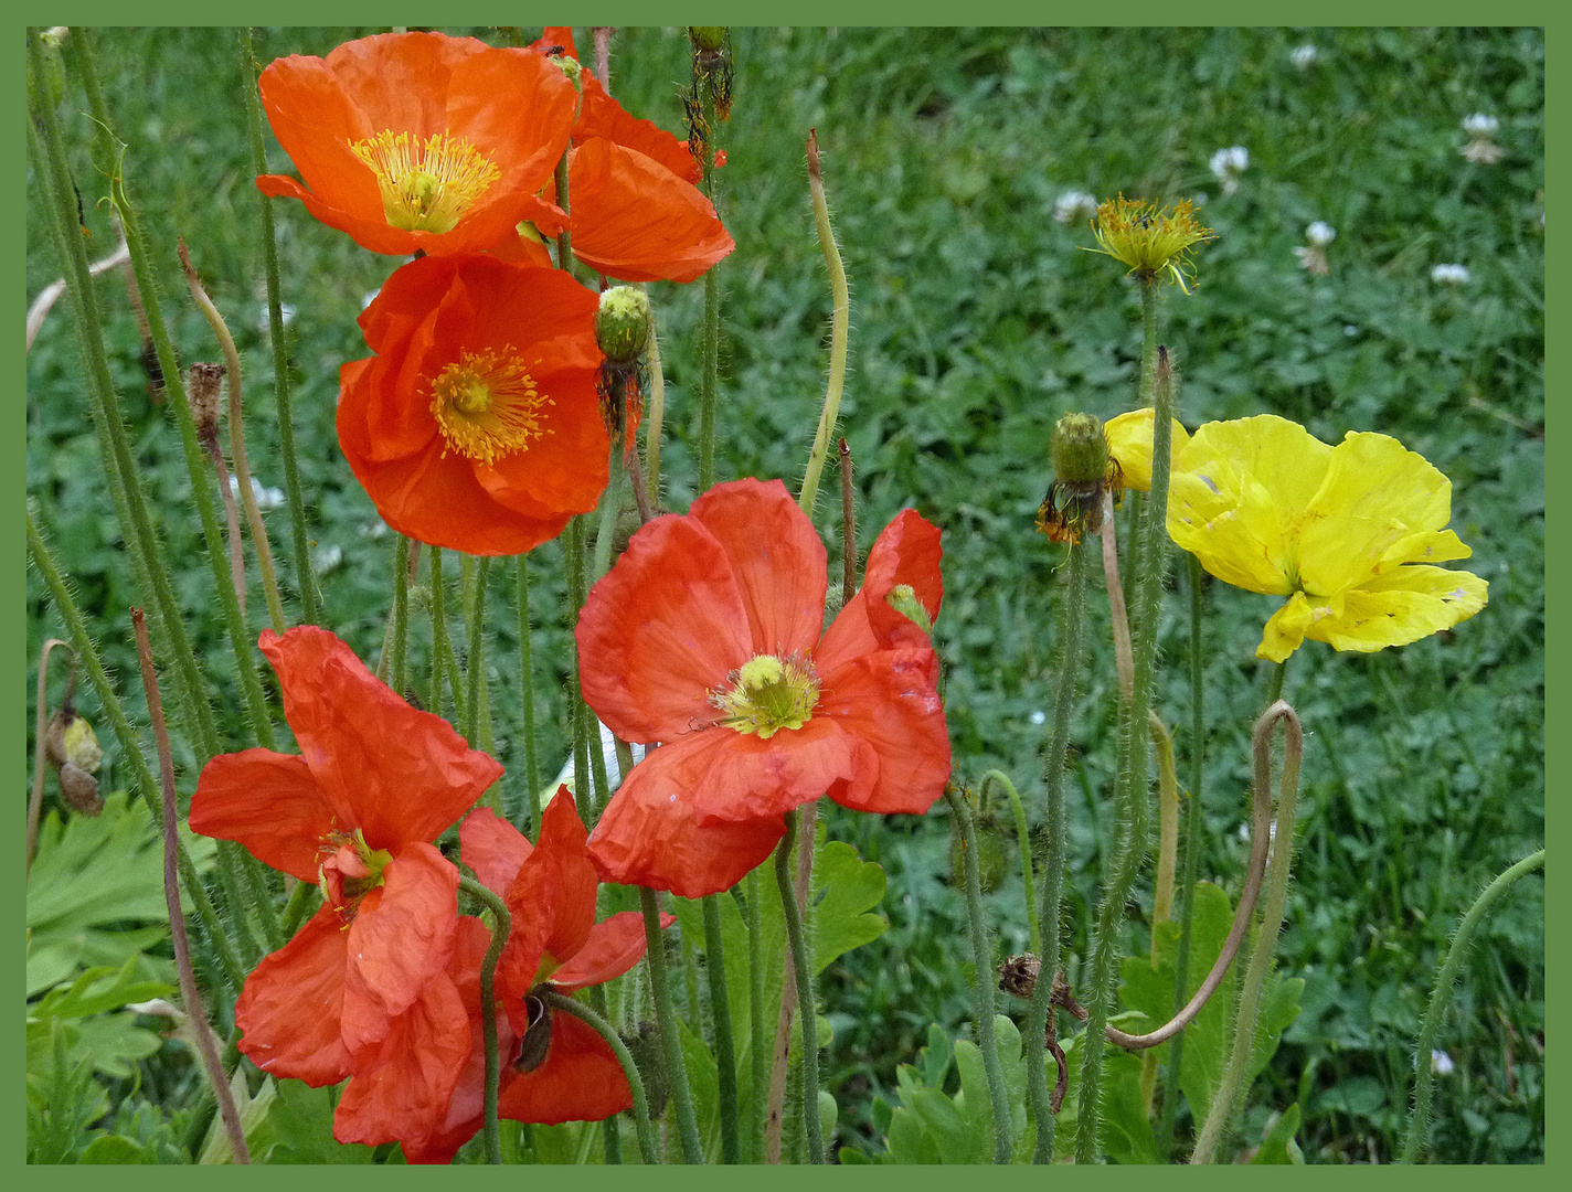
[[1218,579],[1287,596],[1298,583],[1297,528],[1331,448],[1262,414],[1206,423],[1179,458],[1168,533]]

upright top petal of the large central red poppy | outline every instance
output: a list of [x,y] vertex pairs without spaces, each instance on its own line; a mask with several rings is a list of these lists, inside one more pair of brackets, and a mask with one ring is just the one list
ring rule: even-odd
[[698,497],[689,516],[726,552],[753,651],[808,653],[824,629],[824,543],[778,480],[734,480]]

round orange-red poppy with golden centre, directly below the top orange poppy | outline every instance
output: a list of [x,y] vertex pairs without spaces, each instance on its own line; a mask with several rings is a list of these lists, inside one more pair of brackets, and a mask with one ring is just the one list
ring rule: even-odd
[[588,513],[607,481],[599,299],[558,269],[428,256],[360,316],[338,442],[384,521],[472,555],[514,555]]

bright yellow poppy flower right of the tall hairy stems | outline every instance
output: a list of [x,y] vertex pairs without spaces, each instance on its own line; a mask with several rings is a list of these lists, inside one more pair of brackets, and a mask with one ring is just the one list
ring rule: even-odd
[[1486,605],[1482,579],[1432,566],[1473,554],[1445,528],[1451,495],[1396,439],[1350,431],[1328,447],[1262,414],[1195,432],[1174,461],[1168,533],[1218,579],[1287,596],[1258,657],[1283,662],[1306,637],[1371,653]]

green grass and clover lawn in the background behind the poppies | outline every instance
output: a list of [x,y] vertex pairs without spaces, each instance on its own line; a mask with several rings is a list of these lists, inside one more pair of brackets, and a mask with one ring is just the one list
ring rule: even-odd
[[[462,30],[450,30],[462,31]],[[360,30],[267,31],[270,57],[324,53]],[[1289,52],[1314,41],[1298,69]],[[245,359],[256,476],[281,484],[272,357],[256,321],[258,195],[245,154],[239,66],[225,30],[104,30],[99,71],[129,143],[126,175],[163,270],[182,359],[215,359],[179,296],[184,234]],[[588,36],[582,35],[582,46]],[[1111,417],[1133,403],[1138,332],[1132,288],[1089,245],[1085,225],[1053,220],[1067,189],[1160,200],[1209,198],[1218,239],[1198,256],[1193,297],[1168,291],[1163,340],[1182,370],[1188,426],[1276,412],[1336,442],[1346,431],[1401,439],[1451,476],[1453,525],[1490,580],[1489,607],[1456,631],[1374,656],[1306,643],[1287,695],[1303,717],[1300,859],[1278,947],[1306,978],[1305,1011],[1251,1098],[1247,1134],[1298,1101],[1311,1162],[1388,1161],[1412,1083],[1412,1047],[1446,939],[1486,881],[1537,848],[1544,832],[1544,39],[1534,30],[739,30],[736,109],[723,132],[722,211],[737,241],[725,263],[722,476],[784,476],[806,459],[825,368],[828,288],[808,209],[803,140],[817,127],[825,187],[852,285],[852,371],[843,431],[857,459],[866,549],[899,508],[945,530],[946,602],[937,640],[957,775],[1000,766],[1036,807],[1036,761],[1050,706],[1053,587],[1061,552],[1033,533],[1050,476],[1047,434],[1067,409]],[[624,30],[613,93],[679,127],[673,80],[685,77],[674,30]],[[115,244],[105,184],[86,145],[80,93],[64,104],[72,168],[93,231]],[[1459,156],[1459,121],[1501,120],[1506,157]],[[1236,195],[1207,170],[1245,145]],[[274,168],[288,162],[272,149]],[[30,179],[28,294],[58,275]],[[1322,219],[1338,230],[1331,275],[1297,267],[1294,245]],[[313,536],[343,550],[322,577],[332,627],[374,656],[390,604],[391,543],[333,436],[338,365],[365,354],[354,318],[395,266],[278,208],[302,481]],[[1462,263],[1456,291],[1432,264]],[[209,668],[233,684],[222,624],[195,558],[189,478],[173,426],[145,396],[138,340],[119,281],[99,281],[113,368],[145,467],[178,593]],[[695,495],[692,396],[701,291],[652,286],[662,321],[671,439],[667,505]],[[130,692],[134,602],[113,510],[97,481],[64,305],[28,360],[28,492]],[[839,533],[835,502],[821,528]],[[269,514],[292,583],[285,511]],[[832,547],[832,566],[835,549]],[[563,755],[567,632],[561,554],[531,557],[542,769]],[[451,569],[451,568],[450,568]],[[506,569],[505,569],[506,571]],[[498,753],[509,800],[522,796],[516,701],[501,686],[517,656],[506,587],[492,596]],[[58,634],[30,576],[30,649]],[[261,593],[253,590],[253,623]],[[1207,848],[1203,876],[1237,887],[1245,846],[1250,717],[1264,676],[1253,653],[1275,607],[1207,587]],[[1182,587],[1162,629],[1159,708],[1188,723]],[[1116,690],[1105,613],[1093,618],[1093,673],[1078,717],[1071,786],[1072,945],[1083,955],[1108,837]],[[420,638],[413,657],[423,657]],[[33,676],[27,676],[31,706]],[[85,706],[90,701],[83,701]],[[237,706],[226,698],[220,706]],[[91,714],[91,706],[88,706]],[[239,739],[233,734],[231,739]],[[1187,734],[1176,733],[1181,775]],[[110,750],[113,753],[113,750]],[[189,758],[187,758],[189,763]],[[112,786],[113,786],[112,778]],[[187,774],[184,789],[190,786]],[[949,873],[945,813],[872,821],[835,811],[832,832],[890,873],[891,928],[824,983],[836,1041],[827,1083],[841,1142],[871,1139],[868,1102],[915,1058],[929,1022],[970,1013],[960,882]],[[1006,865],[989,895],[1001,950],[1025,945]],[[1143,882],[1149,888],[1149,873]],[[1149,911],[1137,915],[1135,939]],[[1437,1087],[1432,1157],[1544,1157],[1542,882],[1512,892],[1465,967],[1440,1046],[1456,1061]]]

